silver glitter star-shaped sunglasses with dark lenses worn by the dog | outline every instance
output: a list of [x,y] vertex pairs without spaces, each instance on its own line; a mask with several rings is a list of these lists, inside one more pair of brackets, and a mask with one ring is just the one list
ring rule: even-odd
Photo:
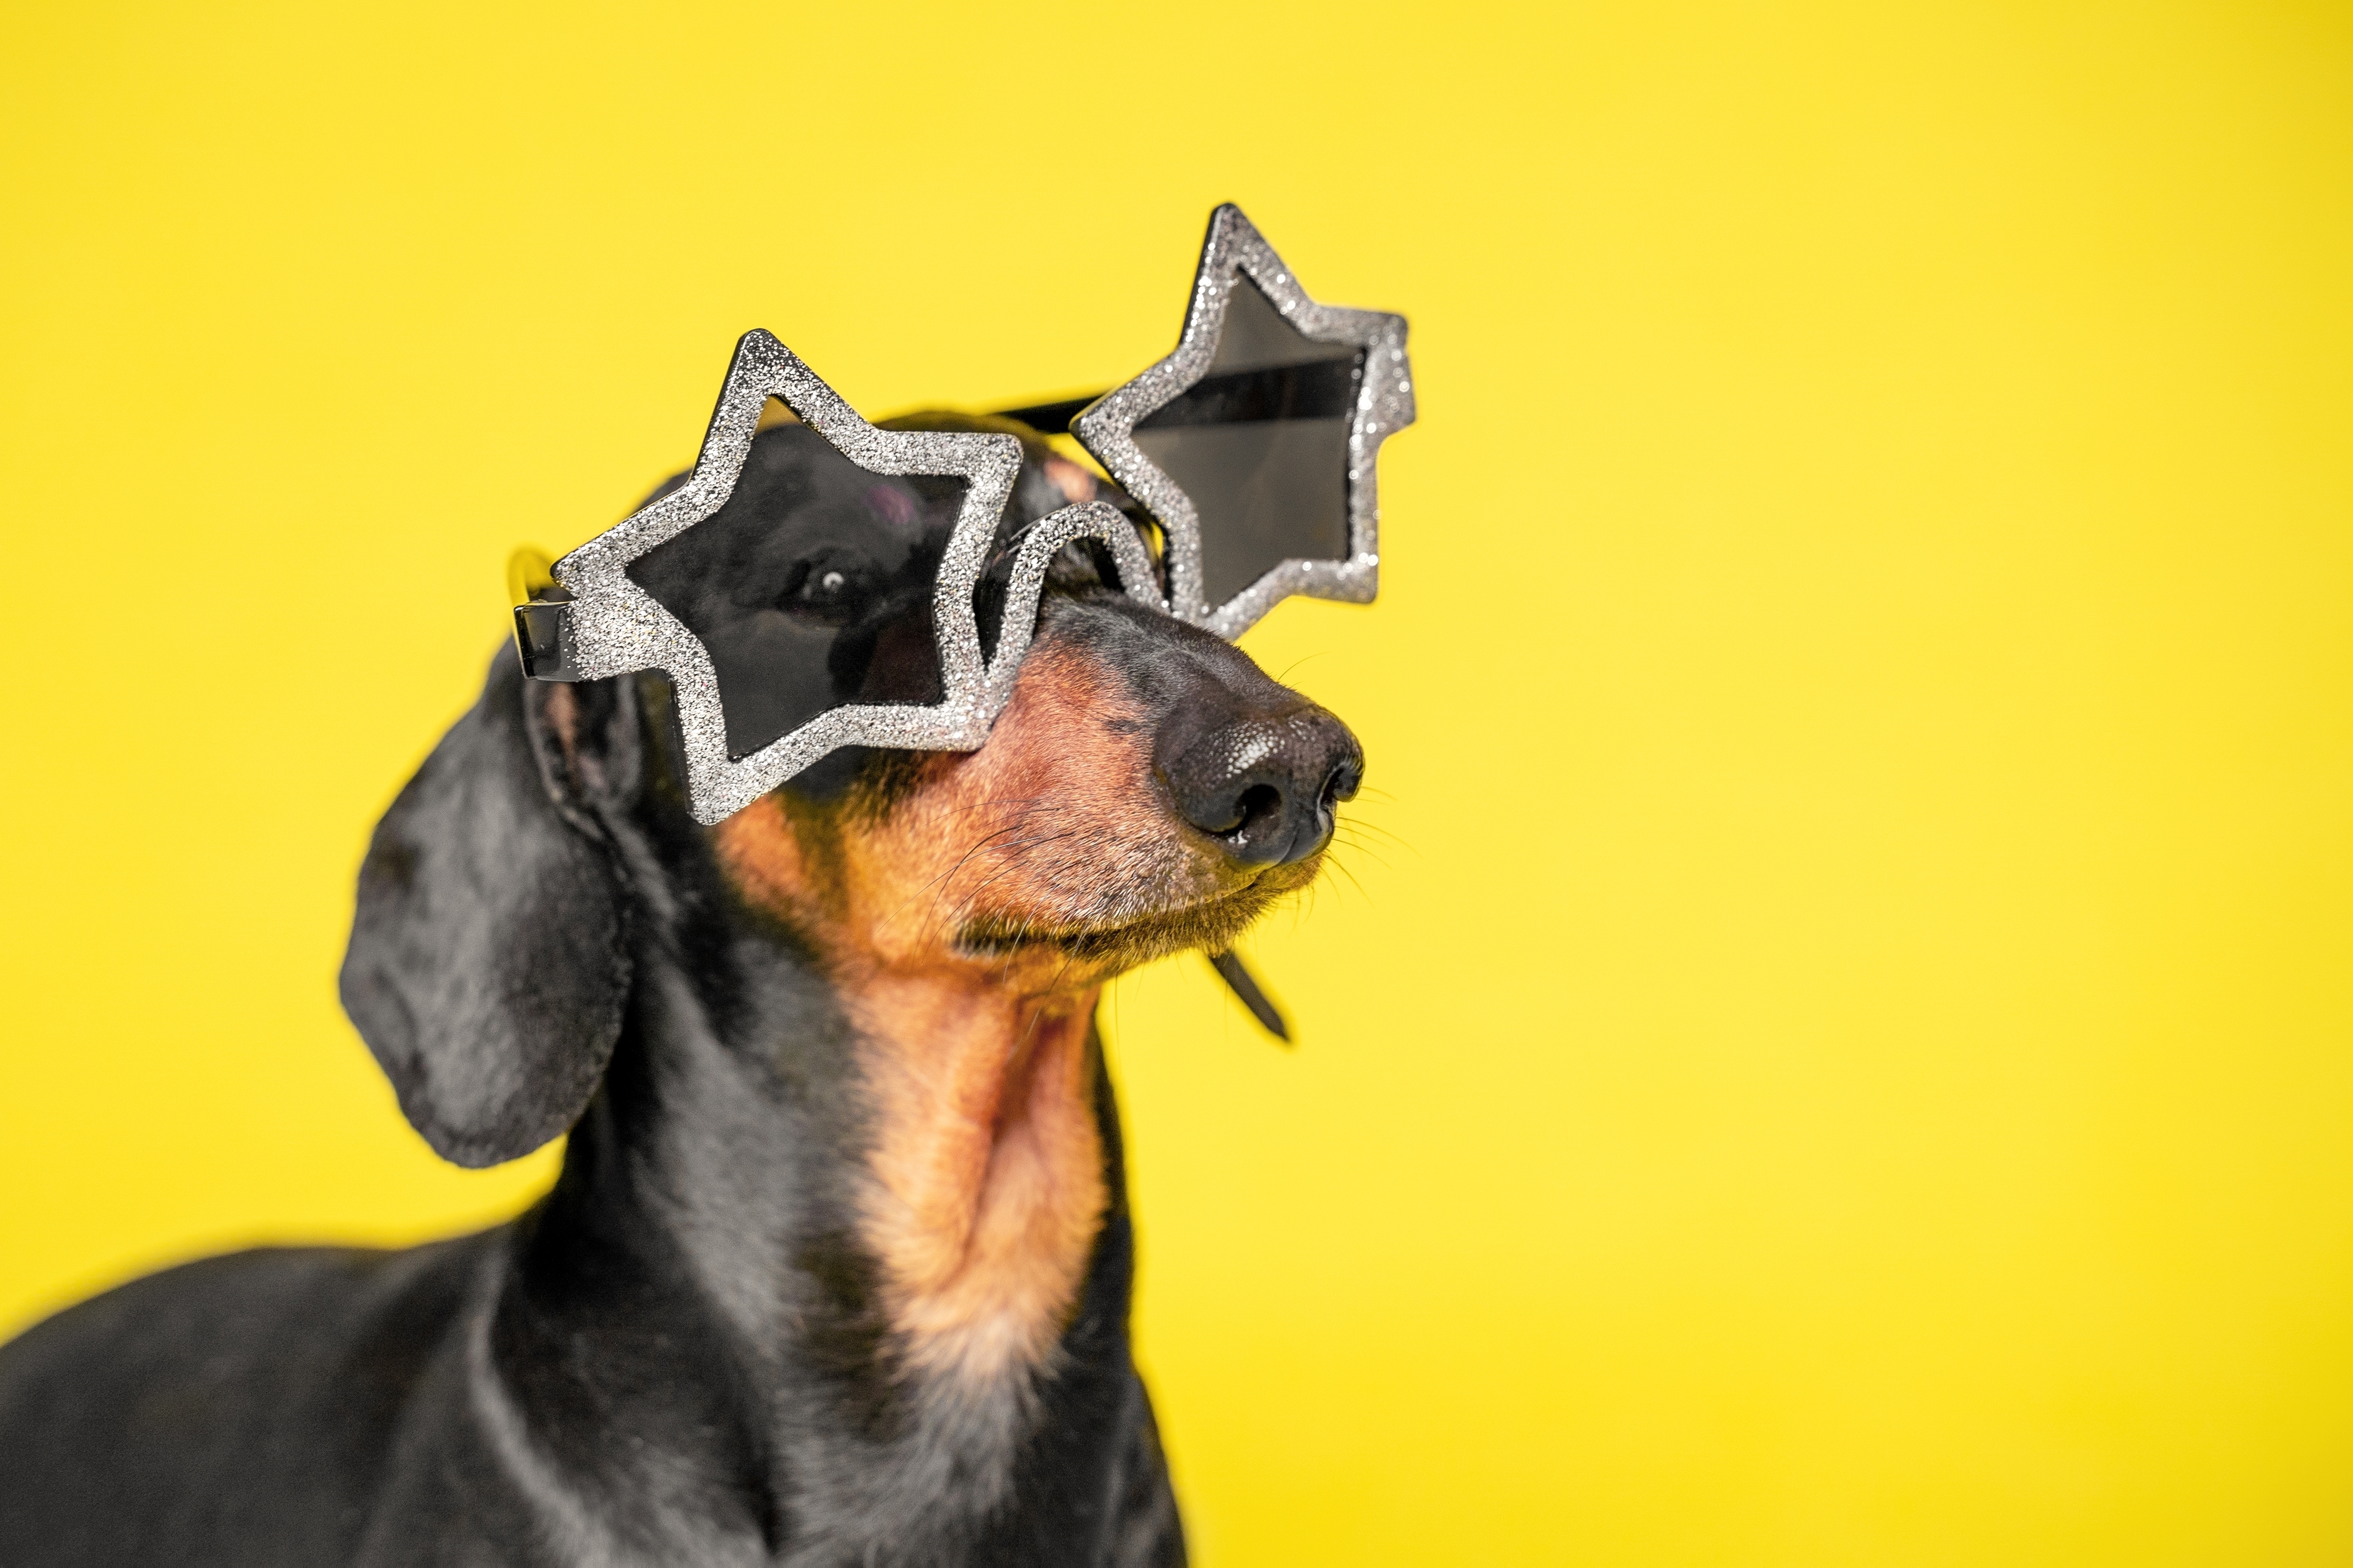
[[[774,431],[772,400],[805,428]],[[1414,421],[1405,318],[1315,304],[1228,205],[1172,356],[1099,398],[998,419],[1075,436],[1160,549],[1106,501],[1007,530],[1019,436],[866,424],[791,348],[746,332],[694,471],[518,586],[522,669],[664,671],[687,803],[720,822],[840,746],[986,742],[1071,546],[1224,638],[1292,593],[1367,603],[1374,457]],[[779,567],[786,603],[734,603]]]

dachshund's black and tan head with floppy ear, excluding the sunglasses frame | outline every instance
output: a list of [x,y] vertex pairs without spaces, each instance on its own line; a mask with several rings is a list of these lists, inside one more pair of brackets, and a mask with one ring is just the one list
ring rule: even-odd
[[[1099,494],[1125,506],[1026,438],[1000,551]],[[781,424],[722,513],[638,563],[711,647],[732,749],[845,695],[925,699],[936,669],[908,584],[936,565],[922,520],[941,506],[936,485],[875,480]],[[1000,610],[984,582],[988,645]],[[809,638],[831,647],[831,695],[779,673],[744,697],[762,669],[807,669],[779,650]],[[666,704],[659,678],[544,685],[501,652],[376,829],[344,1003],[447,1158],[515,1158],[579,1116],[654,928],[694,939],[680,911],[809,956],[861,1026],[944,989],[1092,1008],[1108,975],[1224,949],[1313,881],[1362,772],[1332,713],[1127,598],[1085,544],[1056,558],[979,751],[842,751],[699,829]]]

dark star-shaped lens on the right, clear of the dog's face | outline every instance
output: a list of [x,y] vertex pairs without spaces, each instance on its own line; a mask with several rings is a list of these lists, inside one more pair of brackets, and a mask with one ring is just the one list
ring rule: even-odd
[[1348,410],[1360,379],[1362,351],[1301,337],[1238,278],[1209,374],[1136,424],[1136,447],[1200,518],[1212,607],[1282,560],[1348,558]]

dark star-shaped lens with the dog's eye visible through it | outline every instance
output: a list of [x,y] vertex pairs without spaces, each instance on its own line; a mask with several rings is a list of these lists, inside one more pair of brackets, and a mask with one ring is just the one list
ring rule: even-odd
[[842,704],[941,699],[932,591],[960,499],[960,480],[918,490],[786,424],[727,506],[628,565],[711,652],[732,756]]

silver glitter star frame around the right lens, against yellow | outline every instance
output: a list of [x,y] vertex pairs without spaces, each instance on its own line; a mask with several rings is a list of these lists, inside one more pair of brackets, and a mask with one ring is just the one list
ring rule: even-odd
[[[1209,605],[1202,598],[1200,518],[1176,480],[1136,447],[1134,428],[1209,374],[1217,339],[1226,330],[1226,301],[1233,299],[1233,283],[1240,275],[1259,285],[1304,337],[1365,351],[1365,379],[1355,388],[1348,419],[1348,558],[1282,560],[1224,605]],[[1071,421],[1071,431],[1111,478],[1160,520],[1167,534],[1169,614],[1231,640],[1292,593],[1358,605],[1372,600],[1381,582],[1377,457],[1381,440],[1412,421],[1414,381],[1405,360],[1405,318],[1313,301],[1242,210],[1226,202],[1209,214],[1209,238],[1200,247],[1193,304],[1186,308],[1176,351],[1087,405]]]

